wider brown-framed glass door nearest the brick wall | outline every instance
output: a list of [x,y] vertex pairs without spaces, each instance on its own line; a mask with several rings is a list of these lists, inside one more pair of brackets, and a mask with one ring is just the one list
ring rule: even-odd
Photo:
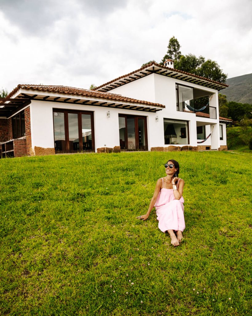
[[53,109],[53,116],[55,152],[95,150],[93,112]]

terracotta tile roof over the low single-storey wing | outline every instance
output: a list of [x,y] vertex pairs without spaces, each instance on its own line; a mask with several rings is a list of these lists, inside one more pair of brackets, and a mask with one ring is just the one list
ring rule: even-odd
[[76,96],[84,96],[88,98],[97,98],[97,99],[106,99],[117,102],[129,102],[129,103],[137,103],[144,104],[150,106],[158,106],[165,108],[164,105],[159,103],[153,103],[149,101],[136,100],[132,98],[123,97],[119,94],[102,92],[102,91],[94,91],[87,90],[82,88],[73,88],[73,87],[65,87],[65,86],[44,86],[44,85],[29,85],[29,84],[19,84],[9,95],[8,98],[12,97],[19,89],[25,89],[30,91],[41,91],[41,92],[51,92],[51,93],[59,93],[59,94],[71,94]]

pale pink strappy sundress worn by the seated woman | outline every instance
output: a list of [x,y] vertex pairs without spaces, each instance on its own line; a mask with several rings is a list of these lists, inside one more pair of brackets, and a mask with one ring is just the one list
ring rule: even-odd
[[[179,185],[179,180],[177,186]],[[163,233],[169,229],[181,230],[182,232],[186,228],[183,203],[183,197],[180,197],[179,200],[175,199],[173,189],[165,189],[163,187],[160,190],[154,206],[156,208],[158,228]]]

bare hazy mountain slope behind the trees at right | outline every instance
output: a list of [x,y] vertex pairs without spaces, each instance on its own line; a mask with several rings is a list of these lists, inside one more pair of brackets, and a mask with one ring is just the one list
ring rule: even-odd
[[252,74],[228,78],[228,88],[220,91],[228,101],[252,104]]

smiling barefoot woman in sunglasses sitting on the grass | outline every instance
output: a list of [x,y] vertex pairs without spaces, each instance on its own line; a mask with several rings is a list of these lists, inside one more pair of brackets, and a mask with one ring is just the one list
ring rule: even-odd
[[168,232],[173,246],[179,246],[185,229],[184,199],[182,197],[184,180],[178,178],[179,163],[173,159],[164,165],[166,177],[158,179],[151,199],[149,209],[145,215],[137,218],[146,221],[155,206],[158,228]]

